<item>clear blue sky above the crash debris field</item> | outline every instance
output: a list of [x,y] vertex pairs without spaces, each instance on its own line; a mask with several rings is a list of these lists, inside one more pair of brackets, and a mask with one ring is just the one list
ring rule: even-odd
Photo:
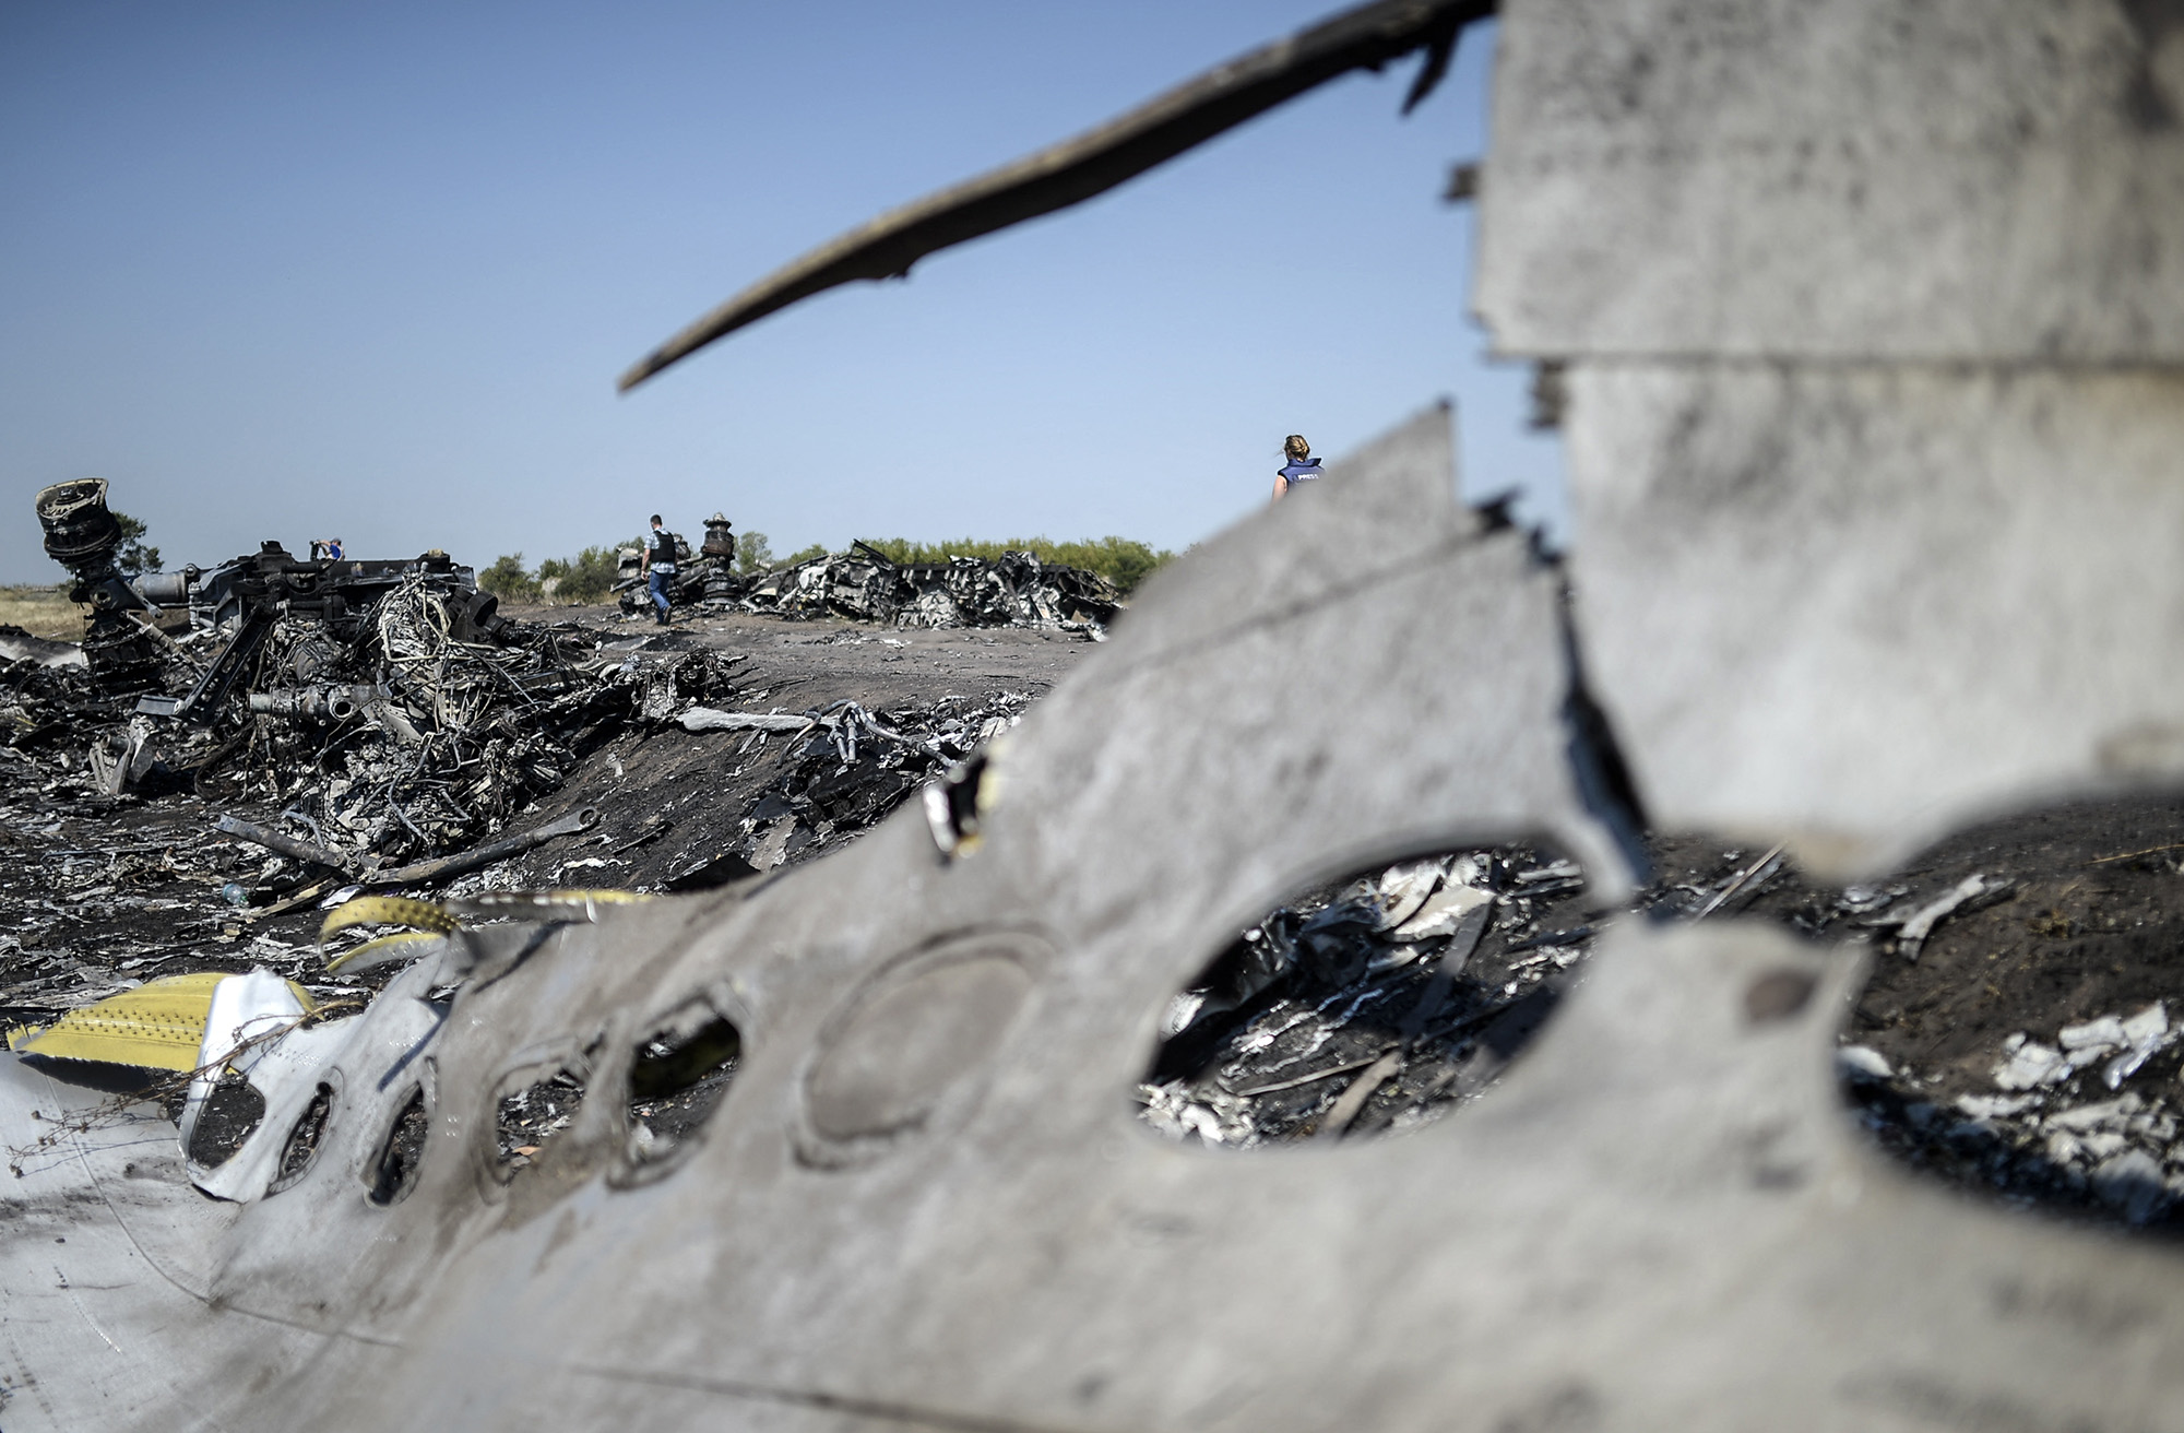
[[[0,579],[105,476],[168,566],[260,537],[531,561],[725,509],[1182,548],[1452,395],[1465,485],[1557,485],[1468,319],[1492,33],[1409,120],[1350,76],[1090,205],[668,332],[874,212],[1306,24],[1321,0],[0,7]],[[1553,505],[1553,498],[1546,498]]]

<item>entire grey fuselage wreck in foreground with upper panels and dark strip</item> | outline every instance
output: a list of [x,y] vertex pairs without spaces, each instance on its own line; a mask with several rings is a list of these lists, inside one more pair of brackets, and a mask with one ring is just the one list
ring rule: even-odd
[[[1481,9],[1223,66],[631,380],[1350,68],[1426,46],[1426,87]],[[1171,996],[1315,880],[1542,834],[1612,891],[1636,793],[1878,872],[2184,767],[2173,9],[1511,0],[1498,44],[1476,299],[1566,391],[1566,572],[1459,505],[1428,411],[854,850],[419,941],[280,1042],[234,1201],[164,1125],[24,1171],[9,1426],[2184,1426],[2175,1252],[1887,1164],[1830,1075],[1859,961],[1771,928],[1610,931],[1409,1138],[1133,1127]],[[729,1044],[710,1118],[638,1138]],[[502,1160],[500,1103],[577,1086]],[[70,1099],[0,1083],[9,1127]]]

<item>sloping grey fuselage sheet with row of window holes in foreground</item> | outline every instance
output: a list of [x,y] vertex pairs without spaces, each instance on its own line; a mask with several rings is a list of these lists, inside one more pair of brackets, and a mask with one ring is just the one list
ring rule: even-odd
[[[1612,933],[1505,1086],[1406,1138],[1136,1123],[1171,996],[1299,885],[1509,832],[1612,861],[1557,575],[1455,505],[1441,413],[1348,472],[1160,579],[996,747],[974,856],[911,808],[758,887],[465,937],[352,1022],[314,1160],[245,1204],[164,1125],[74,1136],[0,1243],[44,1400],[11,1433],[2169,1426],[2180,1260],[1887,1166],[1830,1073],[1854,963],[1767,931]],[[642,1162],[631,1055],[692,1005],[745,1064]],[[559,1068],[592,1094],[502,1182],[496,1099]],[[9,1068],[9,1127],[39,1086]]]

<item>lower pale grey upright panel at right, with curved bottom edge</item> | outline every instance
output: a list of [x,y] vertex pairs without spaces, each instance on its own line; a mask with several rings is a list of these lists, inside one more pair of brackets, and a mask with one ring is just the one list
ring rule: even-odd
[[1872,874],[2184,778],[2184,376],[1579,365],[1570,566],[1655,821]]

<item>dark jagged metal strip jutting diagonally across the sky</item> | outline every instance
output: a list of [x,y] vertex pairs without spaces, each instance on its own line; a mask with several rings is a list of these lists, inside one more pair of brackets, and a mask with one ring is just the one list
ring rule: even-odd
[[850,229],[734,295],[620,376],[629,391],[714,339],[854,280],[906,277],[919,258],[1083,203],[1352,70],[1426,48],[1404,109],[1448,66],[1461,28],[1492,0],[1374,0],[1214,66],[1085,133]]

